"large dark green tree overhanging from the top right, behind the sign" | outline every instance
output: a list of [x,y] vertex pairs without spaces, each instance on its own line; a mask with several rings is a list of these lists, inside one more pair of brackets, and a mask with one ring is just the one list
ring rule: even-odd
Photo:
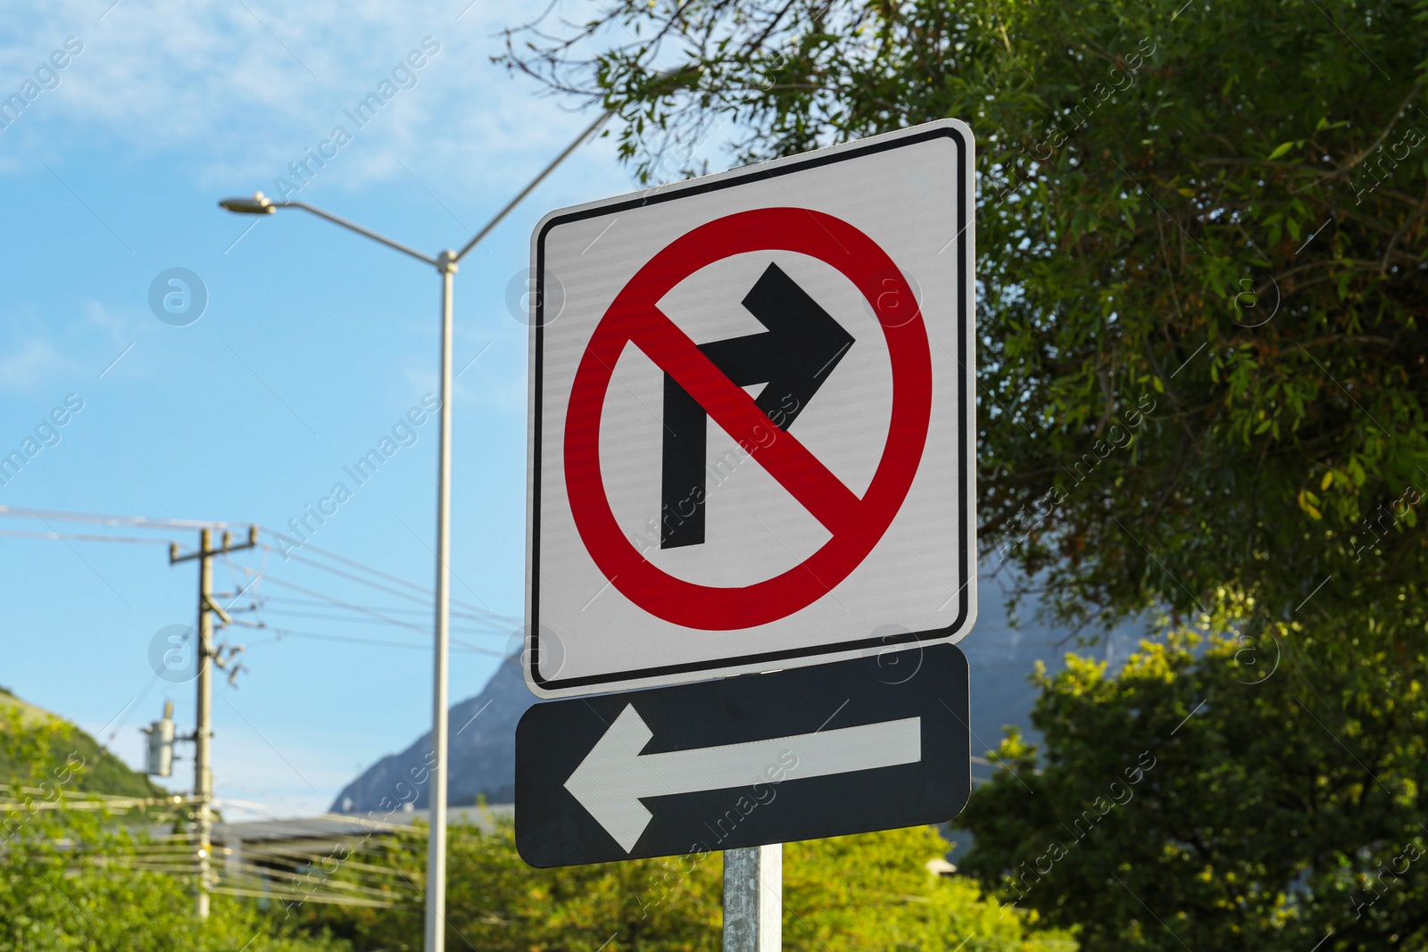
[[971,124],[982,547],[1062,617],[1228,585],[1264,624],[1334,575],[1331,614],[1421,631],[1428,3],[603,10],[506,61],[618,110],[644,177]]

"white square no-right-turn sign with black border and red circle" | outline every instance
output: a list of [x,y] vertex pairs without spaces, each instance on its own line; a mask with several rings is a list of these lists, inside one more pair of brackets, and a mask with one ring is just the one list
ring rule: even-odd
[[942,120],[541,220],[531,691],[971,629],[974,207]]

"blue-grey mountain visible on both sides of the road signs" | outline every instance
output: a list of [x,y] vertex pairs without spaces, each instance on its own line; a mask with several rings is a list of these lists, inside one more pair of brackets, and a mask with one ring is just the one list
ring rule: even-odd
[[[1037,605],[1031,599],[1020,612],[1021,622],[1012,625],[1004,609],[1004,592],[994,577],[981,578],[980,598],[977,624],[961,642],[971,667],[970,726],[974,756],[997,746],[1004,725],[1017,725],[1030,739],[1037,739],[1030,719],[1037,689],[1027,677],[1035,669],[1037,661],[1044,661],[1048,671],[1061,669],[1065,652],[1075,648],[1071,642],[1058,645],[1067,639],[1068,632],[1038,622]],[[1142,637],[1140,625],[1122,625],[1105,635],[1094,654],[1115,669]],[[450,805],[474,804],[477,796],[486,796],[490,804],[511,802],[516,785],[516,722],[533,704],[536,698],[521,678],[520,662],[510,658],[481,694],[451,708]],[[384,796],[398,799],[401,792],[397,785],[414,775],[421,776],[430,738],[430,732],[424,734],[401,754],[384,756],[364,771],[337,795],[331,809],[366,812],[383,809],[380,802]],[[990,769],[977,766],[972,772],[987,776]],[[423,809],[427,806],[426,785],[416,786],[418,795],[414,805]]]

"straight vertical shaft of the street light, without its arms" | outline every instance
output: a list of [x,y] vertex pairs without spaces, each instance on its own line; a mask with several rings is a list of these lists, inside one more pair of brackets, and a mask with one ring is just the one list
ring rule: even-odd
[[427,929],[426,952],[446,949],[446,826],[447,826],[447,659],[450,655],[451,581],[451,278],[456,253],[437,255],[441,273],[441,438],[437,451],[437,644],[431,711],[431,775],[427,805]]

